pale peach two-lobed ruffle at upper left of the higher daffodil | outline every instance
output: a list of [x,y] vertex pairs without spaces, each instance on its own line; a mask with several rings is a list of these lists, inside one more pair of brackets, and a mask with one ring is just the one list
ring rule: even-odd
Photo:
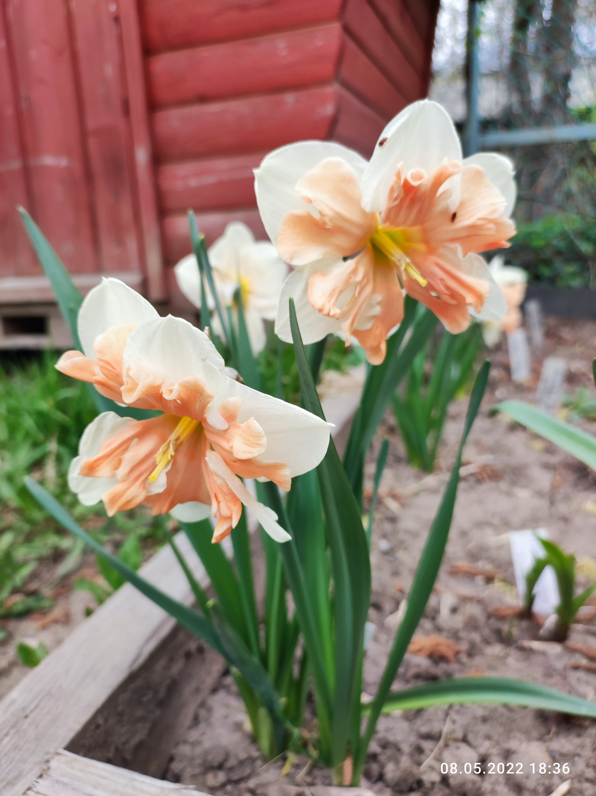
[[328,255],[349,256],[367,244],[378,227],[376,213],[360,204],[354,170],[341,158],[327,158],[305,174],[296,192],[319,213],[293,211],[281,222],[277,252],[287,263],[306,265]]

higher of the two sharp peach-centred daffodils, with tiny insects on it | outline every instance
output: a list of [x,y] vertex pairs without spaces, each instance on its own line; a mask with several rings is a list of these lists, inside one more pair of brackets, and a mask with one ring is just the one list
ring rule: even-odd
[[515,233],[512,162],[492,153],[463,159],[437,103],[406,107],[368,163],[333,142],[282,146],[256,170],[255,190],[269,237],[295,268],[276,318],[282,340],[292,340],[290,296],[305,343],[343,330],[373,364],[402,321],[404,290],[454,334],[471,315],[506,311],[477,252],[507,246]]

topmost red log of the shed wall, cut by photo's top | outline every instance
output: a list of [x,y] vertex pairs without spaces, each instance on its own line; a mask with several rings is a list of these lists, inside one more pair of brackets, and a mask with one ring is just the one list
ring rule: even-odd
[[[418,0],[417,0],[418,2]],[[343,0],[143,0],[149,53],[335,21]]]

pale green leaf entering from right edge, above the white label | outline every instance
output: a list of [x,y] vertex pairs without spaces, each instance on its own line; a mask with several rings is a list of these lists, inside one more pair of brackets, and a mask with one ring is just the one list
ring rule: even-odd
[[596,470],[596,439],[586,434],[586,431],[570,426],[569,423],[563,423],[562,420],[556,420],[541,409],[524,404],[520,400],[506,400],[502,404],[497,404],[492,412],[503,412],[517,423],[548,439],[549,442],[562,447],[563,451],[571,453],[592,470]]

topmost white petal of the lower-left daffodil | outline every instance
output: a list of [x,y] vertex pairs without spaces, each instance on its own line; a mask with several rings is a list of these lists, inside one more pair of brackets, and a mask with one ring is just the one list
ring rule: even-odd
[[142,295],[120,279],[102,279],[80,305],[77,328],[84,355],[95,358],[96,338],[112,326],[141,324],[153,318],[159,318],[159,313]]

